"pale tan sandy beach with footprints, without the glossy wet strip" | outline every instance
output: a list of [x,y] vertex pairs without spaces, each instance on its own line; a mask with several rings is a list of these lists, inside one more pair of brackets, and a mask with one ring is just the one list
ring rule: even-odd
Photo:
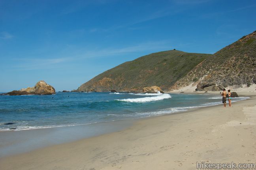
[[3,157],[0,169],[194,170],[197,162],[256,163],[256,96],[244,94],[250,99],[232,107],[143,118],[119,132]]

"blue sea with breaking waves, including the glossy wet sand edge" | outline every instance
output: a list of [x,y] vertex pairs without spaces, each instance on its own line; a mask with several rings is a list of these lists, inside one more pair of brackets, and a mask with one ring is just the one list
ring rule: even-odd
[[[232,98],[232,102],[245,99]],[[0,96],[0,157],[119,131],[131,126],[136,118],[221,103],[221,96],[211,94],[4,95]]]

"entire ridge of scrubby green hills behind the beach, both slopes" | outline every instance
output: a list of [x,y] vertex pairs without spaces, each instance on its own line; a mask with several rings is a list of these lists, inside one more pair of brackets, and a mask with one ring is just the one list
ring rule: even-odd
[[145,55],[99,74],[78,91],[141,91],[159,86],[163,90],[197,85],[196,91],[256,83],[256,31],[215,54],[177,50]]

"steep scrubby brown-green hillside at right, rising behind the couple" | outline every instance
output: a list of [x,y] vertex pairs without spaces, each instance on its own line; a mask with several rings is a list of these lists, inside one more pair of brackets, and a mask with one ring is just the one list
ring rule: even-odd
[[198,91],[256,83],[256,31],[222,48],[179,79],[170,89],[198,81]]

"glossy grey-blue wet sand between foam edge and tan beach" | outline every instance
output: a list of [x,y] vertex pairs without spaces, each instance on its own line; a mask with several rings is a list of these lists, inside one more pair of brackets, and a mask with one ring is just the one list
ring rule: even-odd
[[0,158],[120,131],[132,126],[134,121],[136,120],[115,120],[75,126],[0,131]]

